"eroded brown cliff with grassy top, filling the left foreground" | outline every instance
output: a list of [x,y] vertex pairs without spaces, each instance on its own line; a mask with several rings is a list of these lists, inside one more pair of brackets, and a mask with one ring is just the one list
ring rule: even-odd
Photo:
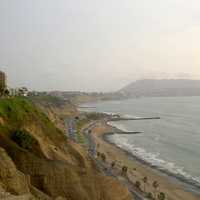
[[[131,199],[124,186],[103,176],[85,149],[68,141],[32,103],[0,101],[0,199]],[[47,111],[60,120],[59,108],[54,108],[49,105]],[[24,132],[13,137],[16,130]]]

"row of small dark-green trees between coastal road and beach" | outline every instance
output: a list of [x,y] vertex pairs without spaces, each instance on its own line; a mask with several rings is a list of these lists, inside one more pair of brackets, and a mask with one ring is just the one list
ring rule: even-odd
[[[103,162],[106,162],[106,155],[104,153],[97,152],[97,157],[100,158]],[[112,161],[110,163],[110,168],[114,169],[115,166],[116,166],[116,161]],[[127,172],[128,172],[128,167],[125,165],[122,166],[121,175],[127,177]],[[148,199],[151,199],[151,200],[165,200],[166,199],[165,193],[158,191],[159,183],[157,181],[152,182],[154,194],[152,194],[151,192],[147,193],[146,191],[146,186],[147,184],[149,184],[149,180],[147,176],[143,177],[142,182],[143,182],[143,190],[141,189],[141,182],[139,180],[135,182],[135,187],[138,188],[138,190],[140,190],[141,192],[144,192]]]

